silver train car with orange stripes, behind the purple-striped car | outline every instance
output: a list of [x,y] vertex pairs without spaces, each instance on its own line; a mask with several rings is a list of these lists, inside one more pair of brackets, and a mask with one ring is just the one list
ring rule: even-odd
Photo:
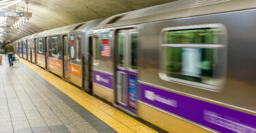
[[83,63],[82,57],[86,56],[83,51],[87,50],[86,43],[89,43],[86,35],[92,33],[98,23],[100,20],[91,20],[37,33],[30,40],[35,40],[35,62],[64,80],[90,91],[82,67],[85,65],[84,68],[87,68],[88,65],[86,62]]

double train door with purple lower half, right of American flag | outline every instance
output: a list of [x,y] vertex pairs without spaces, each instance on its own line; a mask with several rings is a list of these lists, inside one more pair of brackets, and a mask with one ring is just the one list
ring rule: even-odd
[[131,113],[137,113],[137,35],[134,29],[118,31],[115,54],[116,103]]

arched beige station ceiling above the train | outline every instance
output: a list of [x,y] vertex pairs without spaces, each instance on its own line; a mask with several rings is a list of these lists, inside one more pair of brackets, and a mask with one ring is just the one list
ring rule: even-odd
[[[5,33],[0,38],[14,41],[40,31],[97,18],[107,18],[114,14],[171,1],[176,0],[29,0],[28,10],[32,12],[29,21],[17,29],[4,29],[10,33]],[[15,10],[16,12],[23,12],[23,10],[27,12],[25,0],[8,8],[0,9],[1,12],[14,12]],[[7,25],[13,24],[14,18],[8,17]]]

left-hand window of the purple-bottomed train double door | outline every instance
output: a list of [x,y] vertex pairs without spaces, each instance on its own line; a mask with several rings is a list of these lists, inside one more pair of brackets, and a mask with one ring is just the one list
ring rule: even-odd
[[118,57],[117,57],[117,61],[118,61],[118,65],[119,67],[124,67],[124,59],[125,59],[125,33],[124,31],[119,31],[117,33],[117,45],[118,45]]

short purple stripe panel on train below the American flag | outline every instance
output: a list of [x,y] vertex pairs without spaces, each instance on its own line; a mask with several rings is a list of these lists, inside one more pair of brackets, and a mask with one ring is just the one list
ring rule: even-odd
[[102,85],[103,87],[107,87],[109,89],[113,89],[113,76],[97,71],[94,71],[93,73],[94,83],[97,83],[98,85]]

